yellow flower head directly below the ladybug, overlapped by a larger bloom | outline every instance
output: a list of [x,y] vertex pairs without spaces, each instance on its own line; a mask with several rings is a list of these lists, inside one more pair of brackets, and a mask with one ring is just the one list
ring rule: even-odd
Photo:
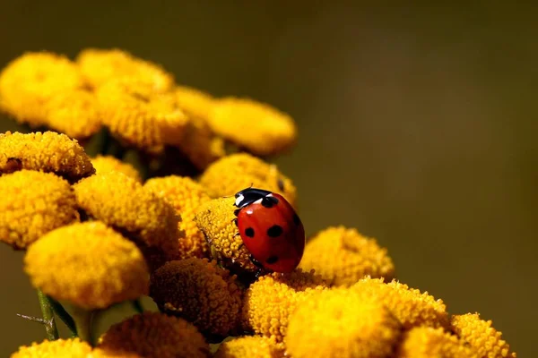
[[290,314],[319,290],[325,282],[314,272],[297,269],[288,274],[259,277],[243,298],[243,327],[282,342]]

